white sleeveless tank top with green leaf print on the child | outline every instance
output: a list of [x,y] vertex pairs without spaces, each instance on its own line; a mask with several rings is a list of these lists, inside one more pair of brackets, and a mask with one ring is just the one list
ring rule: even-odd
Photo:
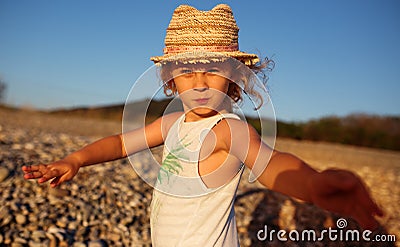
[[169,130],[151,203],[153,246],[239,246],[233,206],[243,166],[214,189],[198,173],[202,142],[223,118],[239,119],[229,113],[185,122],[182,115]]

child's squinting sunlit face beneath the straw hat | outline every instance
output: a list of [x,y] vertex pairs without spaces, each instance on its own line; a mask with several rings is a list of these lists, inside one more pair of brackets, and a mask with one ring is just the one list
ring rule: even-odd
[[227,95],[229,83],[233,83],[228,79],[230,74],[223,63],[180,65],[172,70],[186,121],[197,121],[230,110]]

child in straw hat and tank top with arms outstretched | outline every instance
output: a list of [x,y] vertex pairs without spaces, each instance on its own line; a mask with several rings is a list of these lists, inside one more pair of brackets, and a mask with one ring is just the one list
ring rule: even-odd
[[183,112],[100,139],[51,164],[24,166],[26,179],[72,179],[83,166],[127,157],[164,144],[151,203],[154,246],[239,246],[234,200],[244,167],[267,188],[356,219],[365,228],[382,215],[362,181],[345,170],[318,172],[273,150],[232,113],[243,92],[258,100],[256,76],[270,61],[239,51],[238,28],[225,4],[210,11],[179,6],[165,38],[160,66],[164,92]]

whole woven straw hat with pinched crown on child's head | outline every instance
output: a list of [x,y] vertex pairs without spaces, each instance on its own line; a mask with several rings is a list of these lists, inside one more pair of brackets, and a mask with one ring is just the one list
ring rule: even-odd
[[210,11],[181,5],[175,9],[167,28],[164,55],[150,60],[205,63],[225,56],[246,65],[257,63],[257,55],[239,51],[238,33],[232,9],[226,4],[219,4]]

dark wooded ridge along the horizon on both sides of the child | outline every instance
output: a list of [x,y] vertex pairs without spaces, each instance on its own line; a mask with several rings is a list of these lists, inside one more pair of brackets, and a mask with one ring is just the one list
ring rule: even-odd
[[[146,122],[161,116],[169,100],[152,101],[149,105]],[[130,115],[143,119],[146,101],[133,103]],[[81,107],[49,111],[52,115],[81,116],[107,120],[122,119],[124,105],[103,107]],[[135,111],[137,109],[137,111]],[[258,131],[257,119],[248,118]],[[345,117],[328,116],[308,122],[277,122],[277,136],[296,140],[334,142],[380,149],[400,150],[400,116],[377,116],[352,114]]]

